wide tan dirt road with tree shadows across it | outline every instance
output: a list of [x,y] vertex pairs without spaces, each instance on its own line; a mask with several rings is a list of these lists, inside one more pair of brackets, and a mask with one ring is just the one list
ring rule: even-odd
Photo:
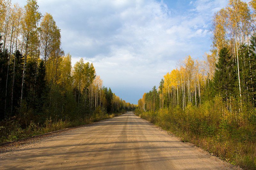
[[230,169],[132,112],[0,154],[0,169]]

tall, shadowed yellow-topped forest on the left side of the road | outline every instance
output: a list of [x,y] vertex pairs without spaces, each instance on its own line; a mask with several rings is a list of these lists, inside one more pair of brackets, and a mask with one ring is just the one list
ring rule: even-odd
[[72,66],[60,28],[36,0],[0,0],[0,143],[133,110],[103,86],[93,63]]

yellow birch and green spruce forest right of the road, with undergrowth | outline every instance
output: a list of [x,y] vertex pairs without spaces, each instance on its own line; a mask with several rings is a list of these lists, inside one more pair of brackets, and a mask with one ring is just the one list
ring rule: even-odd
[[144,93],[136,114],[231,164],[256,169],[256,1],[212,18],[211,52],[190,55]]

